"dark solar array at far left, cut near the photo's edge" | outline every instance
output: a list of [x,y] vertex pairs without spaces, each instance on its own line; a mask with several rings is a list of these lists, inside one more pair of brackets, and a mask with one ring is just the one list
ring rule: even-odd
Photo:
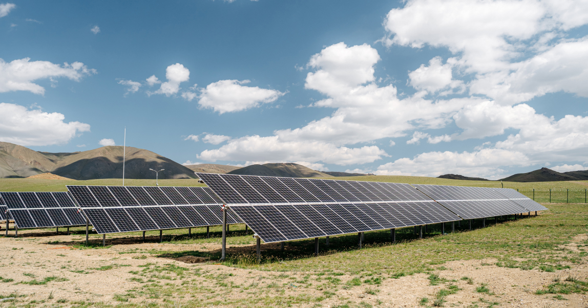
[[0,200],[20,229],[86,223],[67,192],[0,192]]

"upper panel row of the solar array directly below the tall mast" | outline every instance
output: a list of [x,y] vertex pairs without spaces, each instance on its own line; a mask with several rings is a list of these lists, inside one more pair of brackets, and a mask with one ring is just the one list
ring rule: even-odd
[[81,207],[222,204],[206,187],[67,186]]

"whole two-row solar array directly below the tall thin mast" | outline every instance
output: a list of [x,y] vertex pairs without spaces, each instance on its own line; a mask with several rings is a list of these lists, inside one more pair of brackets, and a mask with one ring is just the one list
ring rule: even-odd
[[[67,186],[96,232],[222,225],[222,201],[209,188]],[[240,223],[227,215],[227,223]]]

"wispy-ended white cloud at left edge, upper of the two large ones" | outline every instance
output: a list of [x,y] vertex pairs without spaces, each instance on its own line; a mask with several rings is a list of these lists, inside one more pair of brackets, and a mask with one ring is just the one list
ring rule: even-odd
[[81,62],[64,65],[54,64],[48,61],[29,62],[30,58],[5,62],[0,59],[0,93],[10,91],[29,91],[35,94],[45,94],[45,88],[33,83],[39,79],[65,77],[73,81],[80,81],[83,76],[96,73],[95,69],[89,69]]

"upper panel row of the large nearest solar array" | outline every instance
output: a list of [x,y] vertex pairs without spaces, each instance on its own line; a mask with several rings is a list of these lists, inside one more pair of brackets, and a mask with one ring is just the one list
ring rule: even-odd
[[227,204],[430,200],[409,184],[196,173]]

